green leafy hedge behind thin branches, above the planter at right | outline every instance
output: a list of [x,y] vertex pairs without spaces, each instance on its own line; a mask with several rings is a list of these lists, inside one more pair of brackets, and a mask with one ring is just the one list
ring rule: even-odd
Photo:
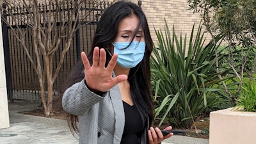
[[[229,48],[230,50],[228,50]],[[232,51],[232,54],[230,53],[230,51]],[[228,72],[228,76],[230,77],[225,81],[228,91],[232,95],[232,102],[235,104],[237,97],[239,97],[239,91],[240,91],[239,84],[241,84],[244,80],[248,79],[248,77],[250,78],[252,75],[252,72],[255,71],[254,57],[256,52],[256,45],[251,46],[250,48],[248,47],[242,48],[241,46],[236,46],[236,45],[232,45],[230,47],[222,45],[221,47],[218,47],[218,52],[220,52],[221,56],[223,57],[221,60],[218,61],[221,72],[227,71],[228,69],[230,69],[231,68],[230,65],[233,65],[234,69],[236,69],[236,70],[230,70]],[[232,60],[229,60],[230,55],[232,55],[231,56]],[[243,65],[242,62],[244,66],[242,66]],[[242,67],[243,67],[243,72],[242,72]],[[239,81],[239,78],[236,76],[237,75],[236,72],[239,76],[243,74],[243,76],[241,76],[241,78],[243,79],[242,81]]]

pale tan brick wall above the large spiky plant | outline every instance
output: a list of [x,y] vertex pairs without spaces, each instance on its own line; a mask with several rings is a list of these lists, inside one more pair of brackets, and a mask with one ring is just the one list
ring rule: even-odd
[[[184,37],[187,34],[189,38],[193,24],[195,29],[198,28],[201,18],[193,10],[189,9],[187,0],[141,0],[141,8],[148,19],[150,31],[154,44],[157,42],[156,30],[164,31],[164,19],[166,20],[170,31],[174,26],[175,33],[179,36],[181,33]],[[132,1],[138,3],[138,1]],[[209,40],[210,37],[207,38]]]

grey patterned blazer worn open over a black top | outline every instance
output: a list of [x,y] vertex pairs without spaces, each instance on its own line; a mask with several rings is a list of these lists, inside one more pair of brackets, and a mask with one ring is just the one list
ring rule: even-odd
[[[124,131],[124,106],[118,85],[102,96],[86,87],[83,81],[72,85],[63,94],[63,109],[78,116],[79,144],[118,144]],[[147,143],[147,130],[141,144]]]

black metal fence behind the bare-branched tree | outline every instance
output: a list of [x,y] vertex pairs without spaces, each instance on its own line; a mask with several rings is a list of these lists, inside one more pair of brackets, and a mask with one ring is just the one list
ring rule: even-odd
[[[54,7],[54,3],[51,4]],[[83,6],[79,8],[77,15],[80,15],[81,17],[86,15],[84,22],[88,22],[88,24],[84,25],[76,31],[76,35],[71,42],[70,49],[65,56],[65,60],[63,61],[60,74],[54,83],[54,94],[58,94],[58,90],[60,90],[61,84],[63,81],[65,81],[65,78],[70,73],[70,70],[72,67],[74,67],[77,60],[79,59],[80,52],[88,52],[88,49],[90,49],[93,33],[97,26],[98,20],[95,18],[99,18],[100,15],[102,15],[104,12],[104,9],[107,8],[110,4],[111,3],[108,1],[88,1],[83,3]],[[42,13],[47,12],[45,11],[45,8],[48,6],[47,4],[39,4],[38,6],[42,8]],[[19,8],[20,6],[1,10],[2,17],[5,17],[11,26],[15,26],[12,17],[10,16],[11,13],[12,15],[15,15],[15,17],[21,17],[24,15],[24,13],[17,13],[19,12]],[[65,12],[67,12],[67,10],[63,10],[63,13]],[[29,52],[32,53],[33,59],[35,60],[35,55],[33,55],[33,39],[31,36],[31,29],[25,31],[26,24],[23,24],[22,22],[20,22],[18,25],[19,28],[24,30],[24,38],[26,40],[25,45],[26,47],[29,47]],[[2,28],[8,99],[31,100],[36,102],[40,101],[40,85],[36,73],[33,70],[30,61],[28,60],[26,52],[22,49],[22,45],[17,40],[17,38],[15,38],[15,35],[13,35],[10,26],[7,26],[2,21]],[[57,51],[54,55],[54,67],[56,67],[56,65],[58,65],[58,61],[60,61],[60,52],[61,47],[60,50]]]

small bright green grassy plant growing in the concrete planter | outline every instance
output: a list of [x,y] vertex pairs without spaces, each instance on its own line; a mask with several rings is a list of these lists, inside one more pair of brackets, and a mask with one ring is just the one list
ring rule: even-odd
[[236,99],[234,109],[256,112],[256,81],[243,83],[241,95]]

